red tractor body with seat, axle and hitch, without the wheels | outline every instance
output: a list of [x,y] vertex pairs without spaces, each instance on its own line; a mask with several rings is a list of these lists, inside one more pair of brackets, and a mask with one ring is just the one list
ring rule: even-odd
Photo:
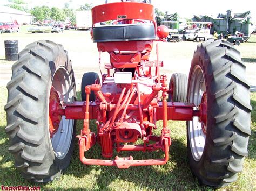
[[[96,23],[117,19],[121,24],[95,26]],[[171,145],[167,120],[191,120],[200,112],[193,111],[194,104],[166,101],[167,92],[172,90],[167,87],[167,77],[159,73],[163,62],[149,60],[157,32],[161,37],[165,36],[161,27],[157,31],[153,6],[135,2],[99,5],[92,9],[92,21],[92,38],[99,52],[109,53],[110,63],[105,63],[107,74],[102,74],[102,85],[96,81],[86,86],[82,89],[86,93],[86,101],[67,104],[63,111],[67,119],[84,119],[83,131],[77,136],[80,160],[84,164],[118,168],[165,164]],[[111,70],[114,70],[114,75],[111,75]],[[96,95],[94,102],[89,100],[92,91]],[[97,135],[89,130],[90,119],[96,119]],[[158,120],[163,120],[161,136],[153,135]],[[138,139],[143,140],[142,145],[127,144]],[[163,150],[165,158],[86,159],[84,152],[96,142],[100,143],[105,158],[112,157],[114,148],[118,152]]]

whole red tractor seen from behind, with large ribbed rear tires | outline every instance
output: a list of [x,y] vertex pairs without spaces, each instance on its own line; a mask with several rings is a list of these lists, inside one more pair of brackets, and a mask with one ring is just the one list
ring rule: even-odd
[[[167,121],[182,120],[187,121],[188,159],[197,178],[213,187],[235,181],[248,154],[252,108],[245,65],[234,46],[214,39],[199,44],[188,82],[186,75],[175,73],[168,83],[160,74],[158,45],[157,60],[149,58],[154,41],[164,41],[168,34],[164,26],[157,27],[151,4],[95,6],[92,23],[92,39],[110,62],[100,77],[84,74],[83,101],[76,101],[71,61],[62,45],[48,40],[29,44],[12,66],[5,130],[22,175],[35,182],[55,179],[70,163],[75,137],[85,165],[164,165],[171,145]],[[76,119],[84,121],[77,136]],[[160,136],[154,134],[158,120],[163,121]],[[86,158],[96,143],[103,159]],[[112,158],[113,150],[161,150],[165,157]]]

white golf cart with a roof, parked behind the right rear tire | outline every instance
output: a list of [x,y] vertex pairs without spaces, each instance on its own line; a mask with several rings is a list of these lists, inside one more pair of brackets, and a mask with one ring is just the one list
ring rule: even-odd
[[200,40],[212,39],[210,34],[211,22],[187,22],[183,31],[183,40]]

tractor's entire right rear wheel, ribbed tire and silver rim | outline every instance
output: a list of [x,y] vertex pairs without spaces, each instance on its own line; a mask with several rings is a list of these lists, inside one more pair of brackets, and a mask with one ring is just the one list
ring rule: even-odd
[[205,117],[187,122],[187,144],[190,167],[205,185],[221,187],[237,180],[248,155],[252,108],[245,75],[234,45],[214,39],[198,45],[187,101],[197,108],[201,103]]

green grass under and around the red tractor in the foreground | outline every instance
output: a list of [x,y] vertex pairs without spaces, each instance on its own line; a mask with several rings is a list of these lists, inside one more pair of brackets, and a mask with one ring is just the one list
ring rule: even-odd
[[[166,165],[161,166],[139,166],[129,169],[118,169],[107,166],[85,166],[78,158],[78,146],[76,142],[71,164],[60,180],[48,184],[32,183],[21,177],[20,172],[14,168],[14,158],[8,152],[9,139],[4,132],[6,126],[6,104],[7,90],[0,87],[0,183],[5,186],[41,186],[42,189],[96,189],[96,190],[211,190],[210,187],[200,185],[188,166],[187,145],[186,145],[186,124],[185,122],[169,121],[171,129],[172,145],[170,147],[170,159]],[[228,190],[255,190],[256,174],[256,93],[251,94],[251,105],[253,107],[251,117],[252,135],[248,145],[249,155],[244,162],[244,170],[239,173],[239,178]],[[160,126],[161,122],[158,122]],[[94,128],[93,122],[90,126]],[[82,128],[82,121],[77,123],[77,133]],[[159,133],[159,131],[158,131]],[[88,158],[102,158],[100,147],[94,146],[85,153]],[[117,154],[117,153],[114,153]],[[136,159],[160,158],[163,152],[123,152],[118,155],[133,155]]]

